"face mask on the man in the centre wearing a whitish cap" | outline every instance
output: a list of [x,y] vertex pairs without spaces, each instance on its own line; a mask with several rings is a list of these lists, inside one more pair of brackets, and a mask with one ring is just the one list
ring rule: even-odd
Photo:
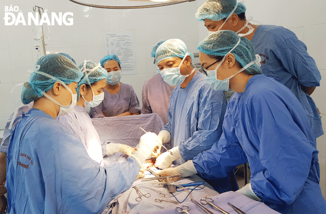
[[[186,53],[186,55],[183,57],[181,63],[179,64],[179,66],[177,68],[164,68],[162,71],[160,71],[160,74],[163,77],[163,80],[165,83],[167,83],[170,86],[179,86],[183,83],[183,81],[185,81],[186,77],[192,75],[195,72],[195,69],[194,69],[188,75],[180,74],[180,67],[181,67],[183,61],[185,60],[187,54],[188,53]],[[158,70],[160,70],[160,69],[158,68]]]

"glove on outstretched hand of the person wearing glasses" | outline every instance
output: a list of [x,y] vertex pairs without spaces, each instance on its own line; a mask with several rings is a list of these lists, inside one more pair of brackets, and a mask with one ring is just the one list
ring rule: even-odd
[[[193,161],[189,160],[186,163],[181,164],[175,168],[167,168],[165,170],[158,171],[156,173],[161,176],[170,176],[170,175],[181,174],[182,177],[189,177],[191,175],[197,174],[197,170],[194,166]],[[171,181],[176,181],[178,179],[179,179],[178,177],[171,178]]]

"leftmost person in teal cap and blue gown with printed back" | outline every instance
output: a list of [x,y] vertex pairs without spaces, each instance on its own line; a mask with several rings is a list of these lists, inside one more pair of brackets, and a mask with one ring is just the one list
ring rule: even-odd
[[143,161],[151,154],[157,135],[140,139],[137,151],[125,162],[106,167],[92,160],[81,140],[57,116],[76,105],[82,73],[59,54],[42,56],[30,82],[23,86],[22,113],[7,152],[8,214],[99,214],[127,190]]

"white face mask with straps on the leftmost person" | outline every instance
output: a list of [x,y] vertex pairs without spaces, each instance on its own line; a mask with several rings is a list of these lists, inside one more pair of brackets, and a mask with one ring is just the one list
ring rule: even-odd
[[42,91],[42,94],[46,98],[48,98],[49,100],[51,100],[52,102],[54,102],[55,104],[57,104],[57,105],[60,106],[60,111],[59,111],[59,113],[57,115],[58,117],[63,116],[63,115],[67,115],[69,112],[71,112],[75,108],[75,106],[77,104],[77,93],[74,94],[73,91],[64,82],[62,82],[61,80],[56,79],[55,77],[53,77],[53,76],[51,76],[49,74],[46,74],[46,73],[43,73],[43,72],[40,72],[40,71],[34,71],[34,72],[37,73],[37,74],[41,74],[43,76],[46,76],[48,78],[51,78],[53,80],[59,81],[62,84],[62,86],[64,86],[71,93],[71,96],[72,96],[71,104],[68,105],[68,106],[64,106],[64,105],[61,105],[55,99],[53,99],[51,96],[49,96],[47,93],[45,93],[44,91]]

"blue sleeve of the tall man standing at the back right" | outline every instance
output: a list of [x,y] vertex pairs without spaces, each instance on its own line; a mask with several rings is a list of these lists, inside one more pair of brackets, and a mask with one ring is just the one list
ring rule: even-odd
[[280,47],[273,49],[273,52],[302,86],[320,86],[322,77],[316,62],[308,54],[307,46],[295,35],[286,39]]

